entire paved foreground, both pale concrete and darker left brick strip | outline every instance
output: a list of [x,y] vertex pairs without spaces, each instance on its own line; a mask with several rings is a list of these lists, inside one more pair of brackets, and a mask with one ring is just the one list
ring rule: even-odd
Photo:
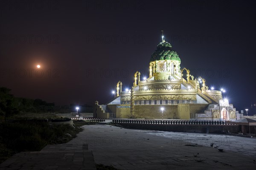
[[[3,162],[0,169],[86,170],[95,169],[94,161],[120,170],[256,168],[255,138],[132,130],[110,125],[83,127],[84,131],[67,144],[16,154]],[[82,149],[84,143],[88,150]],[[213,147],[209,147],[210,143],[214,143]]]

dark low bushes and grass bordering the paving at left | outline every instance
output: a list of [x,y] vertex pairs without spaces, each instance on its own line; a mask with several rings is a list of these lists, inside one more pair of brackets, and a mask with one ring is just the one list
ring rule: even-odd
[[17,152],[40,151],[47,144],[70,141],[82,131],[79,127],[85,122],[74,123],[75,129],[69,124],[49,125],[36,119],[0,124],[0,163]]

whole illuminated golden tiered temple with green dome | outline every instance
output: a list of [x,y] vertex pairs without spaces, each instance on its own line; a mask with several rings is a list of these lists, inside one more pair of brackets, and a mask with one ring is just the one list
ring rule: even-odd
[[[203,77],[194,77],[189,69],[180,68],[180,57],[172,45],[162,42],[151,55],[149,76],[141,79],[134,73],[130,89],[116,85],[115,97],[106,105],[95,102],[97,118],[236,120],[238,111],[222,91],[209,89]],[[184,78],[183,78],[184,77]]]

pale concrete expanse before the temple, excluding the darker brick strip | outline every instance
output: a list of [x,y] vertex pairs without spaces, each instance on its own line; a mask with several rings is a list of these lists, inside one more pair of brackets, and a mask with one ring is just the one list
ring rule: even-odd
[[[230,148],[224,148],[224,151],[220,152],[214,147],[209,147],[210,144],[202,146],[199,142],[182,142],[177,138],[178,133],[173,139],[159,135],[163,133],[165,132],[91,125],[84,126],[84,131],[69,143],[88,143],[88,149],[92,150],[97,164],[113,165],[120,170],[198,170],[203,168],[249,170],[256,168],[255,152],[241,154],[247,149],[255,151],[255,138],[207,134],[209,139],[212,136],[225,141],[232,138],[232,141],[247,144],[249,147],[241,148],[241,145],[236,142],[230,142]],[[189,133],[180,133],[180,137],[184,138],[186,134]],[[199,137],[204,135],[193,134]]]

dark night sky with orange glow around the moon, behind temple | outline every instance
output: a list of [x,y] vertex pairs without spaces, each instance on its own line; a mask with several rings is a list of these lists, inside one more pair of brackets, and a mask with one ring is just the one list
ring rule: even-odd
[[[148,77],[164,39],[237,110],[256,103],[254,0],[2,0],[0,86],[56,105],[105,104]],[[41,70],[36,65],[41,65]]]

